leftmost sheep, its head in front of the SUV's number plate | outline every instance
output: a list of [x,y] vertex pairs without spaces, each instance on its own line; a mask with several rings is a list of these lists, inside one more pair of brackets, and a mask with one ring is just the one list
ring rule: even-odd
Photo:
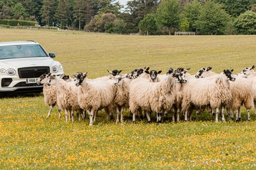
[[[42,74],[42,76],[38,78],[38,82],[37,82],[38,84],[44,85],[44,89],[43,89],[44,102],[50,107],[50,110],[48,111],[48,114],[47,114],[47,118],[51,116],[52,108],[56,105],[56,94],[57,94],[57,89],[55,86],[46,85],[48,80],[49,80],[49,76],[47,74]],[[60,108],[58,109],[58,113],[60,118],[61,117]]]

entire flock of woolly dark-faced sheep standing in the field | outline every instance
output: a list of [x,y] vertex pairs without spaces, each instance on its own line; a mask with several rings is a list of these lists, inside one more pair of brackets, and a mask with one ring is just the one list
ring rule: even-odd
[[87,73],[77,73],[73,78],[49,73],[40,76],[38,83],[44,84],[44,100],[50,106],[47,117],[57,105],[59,117],[60,111],[65,111],[66,122],[74,122],[76,111],[79,120],[88,113],[90,125],[93,125],[97,112],[104,109],[107,119],[115,114],[116,122],[123,123],[125,108],[131,111],[132,122],[142,113],[148,122],[151,122],[151,113],[154,113],[157,123],[169,113],[173,121],[180,121],[180,113],[187,121],[191,120],[193,110],[196,113],[209,111],[215,115],[216,122],[219,113],[225,122],[224,111],[227,110],[229,119],[236,113],[236,121],[240,121],[241,106],[246,108],[250,121],[250,110],[256,104],[254,68],[246,67],[234,75],[233,69],[216,74],[211,67],[203,67],[191,75],[189,69],[180,67],[170,68],[166,74],[145,67],[122,76],[121,71],[108,71],[109,76],[96,79],[88,79]]

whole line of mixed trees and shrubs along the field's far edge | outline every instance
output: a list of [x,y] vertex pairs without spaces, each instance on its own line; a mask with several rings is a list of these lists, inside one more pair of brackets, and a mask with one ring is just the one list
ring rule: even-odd
[[256,34],[256,0],[2,0],[0,20],[117,34]]

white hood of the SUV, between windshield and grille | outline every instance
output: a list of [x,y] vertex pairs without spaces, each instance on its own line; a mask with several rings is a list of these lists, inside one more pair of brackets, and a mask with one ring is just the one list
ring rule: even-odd
[[50,57],[38,57],[28,59],[4,59],[0,60],[1,67],[36,67],[36,66],[51,66],[54,60]]

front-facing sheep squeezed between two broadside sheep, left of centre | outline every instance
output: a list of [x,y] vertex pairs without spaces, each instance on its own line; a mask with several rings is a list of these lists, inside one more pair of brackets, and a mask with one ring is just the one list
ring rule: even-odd
[[120,113],[120,122],[123,123],[124,108],[129,108],[129,91],[131,79],[125,76],[116,75],[115,78],[115,98],[116,106],[116,122],[119,122],[118,115]]

